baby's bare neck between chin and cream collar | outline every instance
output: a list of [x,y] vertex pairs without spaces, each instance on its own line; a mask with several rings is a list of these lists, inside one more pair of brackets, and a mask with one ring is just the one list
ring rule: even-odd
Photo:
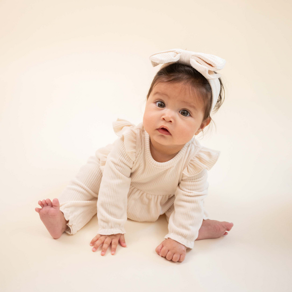
[[169,146],[158,144],[155,141],[153,145],[150,139],[150,152],[151,152],[152,158],[157,162],[167,162],[171,160],[181,151],[183,146],[179,145],[177,147],[171,148]]

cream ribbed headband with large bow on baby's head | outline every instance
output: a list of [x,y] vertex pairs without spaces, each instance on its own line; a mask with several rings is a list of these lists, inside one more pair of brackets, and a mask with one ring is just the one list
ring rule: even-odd
[[214,71],[221,70],[225,66],[226,60],[215,55],[172,49],[152,54],[150,61],[153,67],[164,64],[161,66],[163,68],[171,63],[178,62],[195,68],[208,80],[211,86],[213,97],[211,111],[214,109],[220,93],[218,78],[221,76],[218,73],[214,73]]

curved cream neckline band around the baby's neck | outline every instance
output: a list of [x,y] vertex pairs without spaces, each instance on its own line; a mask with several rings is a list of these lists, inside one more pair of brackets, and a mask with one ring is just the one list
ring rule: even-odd
[[148,160],[148,162],[150,164],[152,164],[153,166],[156,167],[161,167],[161,168],[166,168],[166,167],[170,167],[173,166],[174,164],[177,164],[177,162],[182,158],[183,154],[186,151],[187,146],[191,143],[192,140],[190,140],[189,142],[187,142],[183,148],[176,154],[175,157],[173,157],[172,159],[166,161],[166,162],[158,162],[156,160],[154,160],[154,158],[151,155],[151,151],[150,151],[150,135],[146,132],[146,130],[144,129],[145,132],[145,154],[146,154],[146,158]]

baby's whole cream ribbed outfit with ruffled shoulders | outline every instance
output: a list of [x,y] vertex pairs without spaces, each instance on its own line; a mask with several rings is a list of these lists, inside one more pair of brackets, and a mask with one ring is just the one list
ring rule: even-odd
[[168,234],[194,247],[203,219],[208,219],[204,198],[208,170],[220,151],[201,146],[195,136],[175,157],[157,162],[150,152],[150,137],[143,123],[113,122],[119,136],[99,148],[59,196],[68,234],[75,234],[97,213],[98,234],[125,234],[127,218],[154,222],[165,213]]

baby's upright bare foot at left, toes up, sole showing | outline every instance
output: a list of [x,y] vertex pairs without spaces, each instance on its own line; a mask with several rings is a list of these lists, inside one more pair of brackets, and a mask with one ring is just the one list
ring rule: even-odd
[[40,219],[45,224],[50,235],[57,239],[68,228],[64,214],[60,211],[60,203],[58,199],[54,199],[53,203],[50,199],[38,201],[40,208],[35,208]]

